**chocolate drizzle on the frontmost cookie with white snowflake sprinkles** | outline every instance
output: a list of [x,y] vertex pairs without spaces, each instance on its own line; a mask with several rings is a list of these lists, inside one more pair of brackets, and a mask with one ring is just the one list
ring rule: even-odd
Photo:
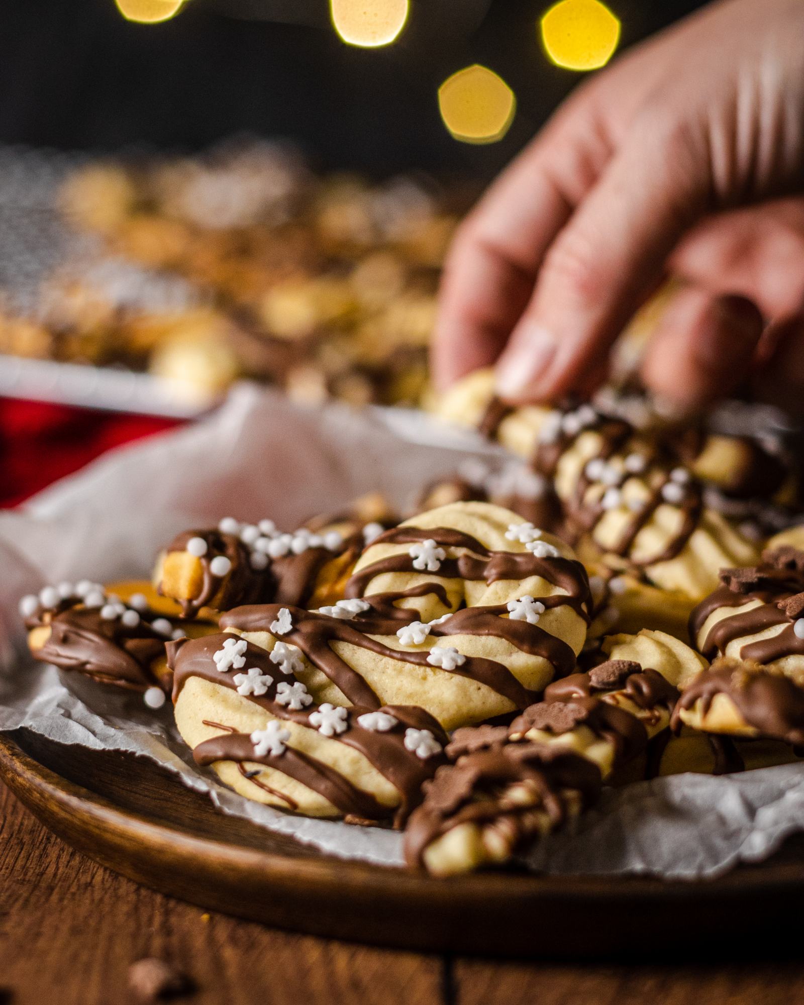
[[[223,642],[231,637],[231,635],[207,635],[200,639],[181,639],[178,642],[168,644],[168,663],[174,672],[174,703],[178,700],[190,677],[201,677],[220,686],[236,689],[234,674],[220,672],[212,658],[213,654],[221,648]],[[248,643],[245,655],[246,666],[256,666],[273,678],[273,682],[268,686],[264,695],[248,695],[248,700],[264,709],[274,719],[297,723],[300,726],[314,729],[310,725],[310,716],[316,712],[317,706],[311,705],[307,709],[294,712],[275,700],[276,685],[282,679],[291,680],[292,678],[284,677],[276,664],[270,661],[269,654],[259,646]],[[382,708],[383,712],[387,712],[397,720],[398,725],[388,732],[379,733],[363,729],[358,723],[358,718],[376,708],[375,703],[371,708],[355,707],[349,709],[347,731],[337,734],[332,739],[357,750],[391,782],[399,791],[401,798],[400,806],[396,810],[393,807],[381,806],[374,800],[374,797],[361,789],[356,789],[348,779],[331,766],[308,755],[303,755],[298,751],[291,753],[290,747],[284,754],[275,757],[266,755],[265,758],[259,758],[254,756],[253,745],[248,737],[236,741],[229,737],[216,737],[199,745],[194,752],[194,757],[196,760],[199,757],[204,759],[198,761],[199,764],[210,764],[212,761],[220,760],[237,761],[238,763],[253,761],[267,764],[319,792],[345,814],[364,817],[368,820],[384,820],[393,817],[395,825],[399,826],[413,806],[417,804],[422,783],[431,778],[435,769],[444,763],[442,756],[433,756],[422,760],[415,753],[408,751],[404,745],[405,730],[408,728],[428,730],[442,746],[446,746],[448,738],[432,716],[423,709],[413,706],[384,706]],[[217,746],[216,742],[219,742]],[[288,753],[290,753],[290,757],[286,758]],[[214,756],[215,754],[218,756]]]

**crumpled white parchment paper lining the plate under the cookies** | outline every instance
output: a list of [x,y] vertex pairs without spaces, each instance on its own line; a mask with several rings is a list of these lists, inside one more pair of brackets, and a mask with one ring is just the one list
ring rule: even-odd
[[[107,455],[24,511],[1,514],[0,730],[152,758],[224,813],[346,858],[400,864],[397,833],[294,817],[225,789],[193,764],[170,708],[155,714],[137,696],[31,661],[17,602],[48,582],[147,577],[176,532],[227,515],[292,530],[367,491],[406,506],[423,484],[480,454],[498,455],[417,413],[306,411],[243,386],[210,418]],[[802,766],[677,775],[610,791],[573,833],[543,841],[528,861],[556,873],[693,878],[762,859],[798,830]]]

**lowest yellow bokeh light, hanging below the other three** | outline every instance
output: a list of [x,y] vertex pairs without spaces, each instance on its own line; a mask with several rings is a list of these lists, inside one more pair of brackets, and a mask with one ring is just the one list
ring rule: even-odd
[[496,143],[514,122],[517,97],[501,76],[475,63],[444,80],[438,108],[455,140]]

